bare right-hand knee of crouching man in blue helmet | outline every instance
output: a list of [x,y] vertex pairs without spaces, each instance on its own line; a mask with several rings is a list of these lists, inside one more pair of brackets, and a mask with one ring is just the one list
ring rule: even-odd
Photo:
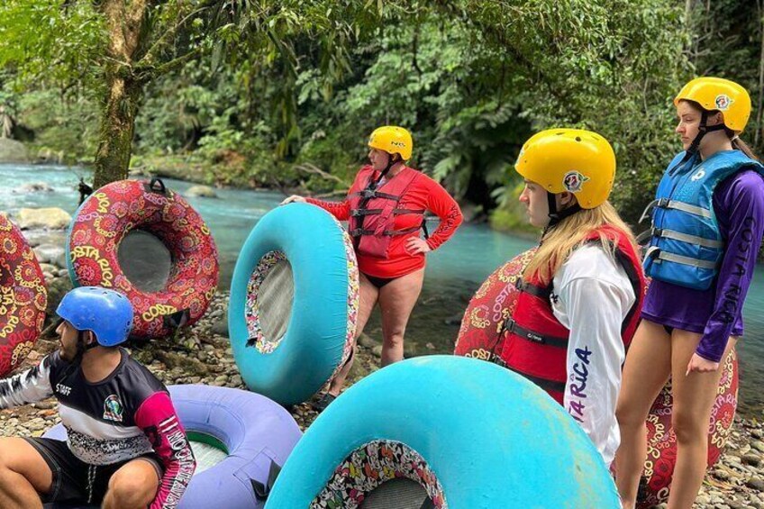
[[133,459],[109,479],[103,509],[141,509],[147,507],[159,489],[159,475],[146,459]]

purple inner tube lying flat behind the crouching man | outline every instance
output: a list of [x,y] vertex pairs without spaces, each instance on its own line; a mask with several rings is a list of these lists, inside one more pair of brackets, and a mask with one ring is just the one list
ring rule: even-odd
[[[228,450],[223,461],[191,479],[178,509],[263,507],[265,500],[255,494],[255,486],[268,490],[271,466],[284,465],[303,434],[292,415],[267,397],[240,389],[199,385],[168,389],[186,432],[212,437]],[[44,436],[66,440],[66,431],[58,424]]]

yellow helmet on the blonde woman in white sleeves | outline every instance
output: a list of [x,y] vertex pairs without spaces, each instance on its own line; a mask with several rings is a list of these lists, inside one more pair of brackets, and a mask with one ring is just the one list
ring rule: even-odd
[[556,195],[576,195],[581,208],[602,205],[613,189],[615,153],[596,132],[550,129],[525,141],[514,169]]

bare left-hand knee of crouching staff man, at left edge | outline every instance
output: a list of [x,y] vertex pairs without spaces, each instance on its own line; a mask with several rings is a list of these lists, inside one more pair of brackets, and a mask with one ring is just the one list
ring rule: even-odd
[[37,509],[38,493],[50,493],[53,473],[32,444],[21,438],[0,438],[0,507]]

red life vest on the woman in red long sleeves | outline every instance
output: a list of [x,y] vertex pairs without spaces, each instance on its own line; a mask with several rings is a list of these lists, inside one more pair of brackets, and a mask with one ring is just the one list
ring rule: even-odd
[[[410,210],[398,208],[405,190],[419,177],[415,169],[404,167],[395,177],[377,186],[374,168],[365,166],[360,169],[358,181],[363,188],[350,194],[350,236],[353,238],[356,252],[366,256],[387,259],[390,238],[395,235],[413,233],[423,228],[424,209]],[[380,191],[381,189],[381,191]],[[415,214],[422,216],[419,226],[395,230],[396,215]]]

